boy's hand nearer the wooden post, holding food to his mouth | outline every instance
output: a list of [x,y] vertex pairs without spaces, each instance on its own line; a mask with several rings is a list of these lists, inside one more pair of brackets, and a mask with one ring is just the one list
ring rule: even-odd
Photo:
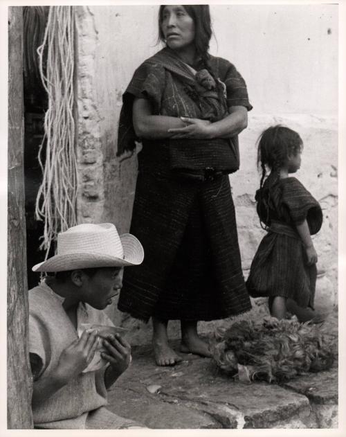
[[100,339],[95,331],[84,331],[80,338],[75,339],[70,346],[67,346],[60,355],[57,364],[57,373],[63,381],[79,375],[86,368],[100,344]]

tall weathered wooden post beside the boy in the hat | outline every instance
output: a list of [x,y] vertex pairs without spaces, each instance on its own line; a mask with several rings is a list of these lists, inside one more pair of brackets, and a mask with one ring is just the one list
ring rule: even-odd
[[33,428],[24,209],[23,8],[8,8],[8,429]]

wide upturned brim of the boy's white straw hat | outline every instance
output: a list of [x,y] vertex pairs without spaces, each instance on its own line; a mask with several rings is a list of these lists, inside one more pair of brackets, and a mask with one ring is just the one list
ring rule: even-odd
[[97,267],[125,267],[143,262],[144,251],[139,240],[130,233],[120,235],[124,258],[95,252],[66,253],[55,255],[44,262],[34,265],[33,271],[66,271],[92,269]]

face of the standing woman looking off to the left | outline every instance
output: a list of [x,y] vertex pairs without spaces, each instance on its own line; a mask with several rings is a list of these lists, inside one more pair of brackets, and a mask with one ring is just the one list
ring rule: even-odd
[[181,5],[167,5],[162,12],[161,30],[168,47],[181,50],[194,42],[194,21]]

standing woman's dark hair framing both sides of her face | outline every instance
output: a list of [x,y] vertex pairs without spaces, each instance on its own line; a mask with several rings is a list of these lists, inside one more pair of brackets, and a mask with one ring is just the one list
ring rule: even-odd
[[[163,21],[163,10],[167,5],[161,5],[158,10],[158,39],[165,42],[165,37],[161,29]],[[212,24],[210,19],[209,5],[182,5],[188,15],[194,21],[194,44],[197,54],[203,60],[208,58],[209,42],[212,37]]]

